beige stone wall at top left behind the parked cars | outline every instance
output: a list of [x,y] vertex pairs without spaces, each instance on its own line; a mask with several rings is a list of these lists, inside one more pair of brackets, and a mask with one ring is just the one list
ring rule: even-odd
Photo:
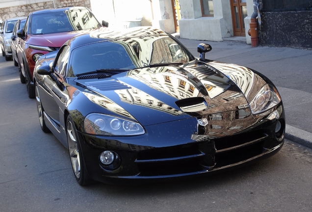
[[[91,10],[90,0],[54,0],[54,2],[56,7],[84,6]],[[33,11],[53,8],[53,1],[0,8],[0,20],[28,16]]]

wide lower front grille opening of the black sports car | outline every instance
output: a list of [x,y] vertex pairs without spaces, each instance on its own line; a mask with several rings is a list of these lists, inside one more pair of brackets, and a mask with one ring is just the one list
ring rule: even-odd
[[138,153],[139,176],[179,176],[207,172],[257,158],[268,136],[261,130]]

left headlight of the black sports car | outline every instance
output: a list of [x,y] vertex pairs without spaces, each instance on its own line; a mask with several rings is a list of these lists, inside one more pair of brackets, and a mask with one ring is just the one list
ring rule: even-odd
[[133,121],[114,116],[91,113],[84,119],[86,133],[95,135],[139,135],[144,134],[143,127]]

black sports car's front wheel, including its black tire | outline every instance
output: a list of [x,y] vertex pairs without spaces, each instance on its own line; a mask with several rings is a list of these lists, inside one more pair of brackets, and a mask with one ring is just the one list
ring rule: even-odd
[[73,172],[79,185],[89,185],[93,180],[89,177],[85,168],[82,151],[72,117],[69,115],[66,121],[66,134],[68,142],[69,157]]

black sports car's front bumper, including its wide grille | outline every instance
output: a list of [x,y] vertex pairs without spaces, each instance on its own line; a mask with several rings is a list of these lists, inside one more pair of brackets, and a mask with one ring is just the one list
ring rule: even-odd
[[[146,127],[147,133],[140,136],[104,138],[78,132],[78,137],[92,179],[110,184],[145,183],[207,175],[270,157],[284,144],[284,110],[279,121],[283,135],[278,138],[278,120],[266,119],[241,132],[213,139],[190,139],[197,123],[188,119]],[[105,170],[101,165],[99,155],[105,150],[120,156],[121,166],[116,170]]]

